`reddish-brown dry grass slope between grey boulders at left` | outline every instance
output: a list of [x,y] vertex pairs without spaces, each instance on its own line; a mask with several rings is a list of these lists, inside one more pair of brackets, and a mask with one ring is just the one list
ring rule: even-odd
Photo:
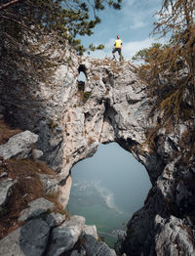
[[58,193],[46,194],[44,191],[38,174],[44,173],[56,177],[54,171],[46,164],[37,163],[30,159],[2,160],[0,164],[0,175],[4,171],[8,173],[9,178],[18,182],[0,216],[0,239],[22,225],[22,223],[18,222],[20,212],[28,207],[30,201],[39,197],[44,197],[54,202],[56,212],[67,214],[59,204]]

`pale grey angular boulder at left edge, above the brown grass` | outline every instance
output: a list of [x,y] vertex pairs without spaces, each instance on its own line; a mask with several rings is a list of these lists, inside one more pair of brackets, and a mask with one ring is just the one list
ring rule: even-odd
[[29,131],[22,132],[11,137],[8,143],[0,146],[0,156],[4,159],[11,157],[25,158],[30,152],[30,146],[36,143],[38,135]]

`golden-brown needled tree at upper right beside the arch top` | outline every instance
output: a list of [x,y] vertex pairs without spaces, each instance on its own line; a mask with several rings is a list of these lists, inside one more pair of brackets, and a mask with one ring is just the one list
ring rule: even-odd
[[150,84],[150,93],[159,96],[157,104],[163,109],[165,120],[187,119],[194,112],[194,10],[194,0],[164,0],[152,34],[169,37],[168,44],[153,45],[133,58],[144,62],[137,71]]

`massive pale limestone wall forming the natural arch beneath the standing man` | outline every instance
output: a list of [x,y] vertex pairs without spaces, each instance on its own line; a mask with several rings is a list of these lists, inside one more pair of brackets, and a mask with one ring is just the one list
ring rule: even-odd
[[[60,54],[57,51],[55,58]],[[68,201],[71,167],[92,156],[99,143],[117,142],[145,166],[153,186],[144,207],[128,224],[123,252],[131,256],[195,255],[191,186],[195,159],[192,156],[187,166],[181,164],[179,146],[187,122],[175,125],[171,132],[159,128],[157,147],[152,149],[146,133],[160,123],[161,113],[150,116],[155,99],[147,97],[147,86],[137,78],[134,65],[78,58],[70,51],[63,53],[62,61],[49,82],[27,84],[24,77],[16,82],[13,76],[9,85],[0,84],[6,118],[39,135],[42,158],[59,176],[60,200],[64,205]],[[77,81],[81,71],[85,84]],[[193,125],[194,120],[192,116]],[[62,232],[67,231],[63,228]],[[55,246],[60,253],[59,243]]]

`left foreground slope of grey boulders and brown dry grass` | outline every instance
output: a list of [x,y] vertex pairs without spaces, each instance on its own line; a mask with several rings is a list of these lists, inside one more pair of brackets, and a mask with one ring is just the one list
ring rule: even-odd
[[[0,235],[3,237],[0,240],[0,255],[115,256],[115,252],[104,242],[98,241],[95,226],[85,225],[84,217],[76,215],[70,217],[62,207],[59,207],[58,179],[54,175],[43,174],[41,169],[39,169],[40,174],[36,173],[34,160],[39,161],[38,158],[42,153],[38,149],[31,148],[37,140],[37,135],[25,131],[11,137],[8,143],[0,146]],[[9,161],[11,157],[12,162]],[[33,165],[31,173],[29,172],[31,166],[28,164],[25,165],[27,176],[23,176],[21,172],[18,174],[18,179],[9,178],[12,176],[13,165],[19,164],[19,161],[21,161],[20,168],[23,162],[31,161]],[[14,171],[20,172],[17,169]],[[36,183],[32,179],[33,176],[37,176]],[[28,191],[22,187],[26,180],[33,184],[34,191],[39,190],[37,194],[36,192],[27,194]],[[39,186],[43,186],[45,197],[39,197],[41,189],[37,188],[37,182],[40,182]],[[17,200],[17,193],[20,190],[22,191],[20,196],[24,197],[25,201],[20,199],[20,205],[13,209],[11,204]],[[33,200],[34,196],[37,198]],[[53,200],[48,199],[50,197]]]

